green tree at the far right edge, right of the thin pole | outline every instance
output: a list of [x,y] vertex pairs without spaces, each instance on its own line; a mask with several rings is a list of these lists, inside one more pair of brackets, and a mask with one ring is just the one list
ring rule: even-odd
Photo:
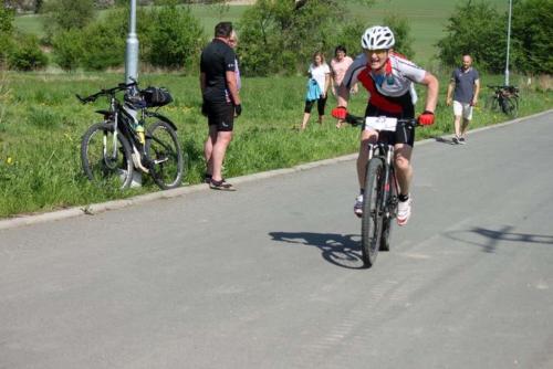
[[512,9],[514,70],[553,74],[553,1],[525,0]]

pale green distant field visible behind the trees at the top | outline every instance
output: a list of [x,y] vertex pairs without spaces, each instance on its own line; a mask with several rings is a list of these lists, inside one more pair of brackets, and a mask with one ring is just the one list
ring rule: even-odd
[[[507,0],[487,0],[500,10],[505,10]],[[428,62],[436,53],[435,44],[444,35],[448,18],[455,10],[456,4],[462,1],[452,0],[378,0],[374,7],[362,7],[351,4],[352,15],[366,21],[367,27],[382,23],[388,14],[407,17],[411,25],[411,34],[415,39],[414,50],[416,60]],[[221,20],[238,21],[249,6],[232,6],[221,18],[218,7],[192,6],[192,12],[199,18],[207,35],[212,34],[215,24]],[[102,12],[100,14],[102,17]],[[15,19],[15,27],[24,32],[41,35],[43,32],[43,17],[20,15]],[[139,20],[138,20],[139,21]]]

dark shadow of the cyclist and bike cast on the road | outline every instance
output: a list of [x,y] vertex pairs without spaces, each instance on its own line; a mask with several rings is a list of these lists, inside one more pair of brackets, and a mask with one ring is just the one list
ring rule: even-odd
[[340,233],[313,232],[269,232],[273,241],[305,246],[315,246],[321,250],[325,261],[331,264],[351,268],[365,268],[361,257],[359,235]]

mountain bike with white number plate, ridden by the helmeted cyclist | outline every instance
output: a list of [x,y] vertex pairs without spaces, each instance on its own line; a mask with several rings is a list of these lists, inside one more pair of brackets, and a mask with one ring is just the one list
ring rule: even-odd
[[[366,126],[377,131],[395,131],[398,124],[416,127],[417,119],[388,117],[357,117],[347,114],[345,122],[351,125]],[[397,217],[399,203],[398,182],[394,166],[394,145],[378,136],[376,143],[368,144],[368,161],[363,196],[363,217],[361,221],[361,251],[365,266],[376,262],[378,251],[389,251],[392,220]]]

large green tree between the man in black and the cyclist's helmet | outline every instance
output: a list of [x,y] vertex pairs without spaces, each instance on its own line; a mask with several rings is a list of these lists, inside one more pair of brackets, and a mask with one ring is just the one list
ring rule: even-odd
[[344,1],[258,0],[238,22],[241,71],[250,75],[296,73],[305,71],[315,51],[330,56],[337,44],[355,44],[352,50],[358,50],[364,28],[354,31],[346,15]]

